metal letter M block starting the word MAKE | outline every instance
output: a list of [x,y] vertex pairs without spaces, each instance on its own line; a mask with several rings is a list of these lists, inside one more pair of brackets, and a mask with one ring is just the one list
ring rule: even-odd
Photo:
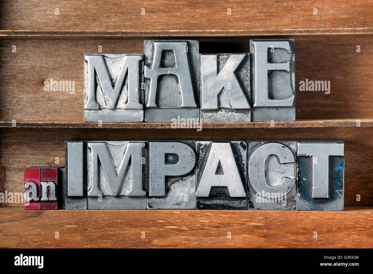
[[142,54],[84,54],[84,121],[144,120]]

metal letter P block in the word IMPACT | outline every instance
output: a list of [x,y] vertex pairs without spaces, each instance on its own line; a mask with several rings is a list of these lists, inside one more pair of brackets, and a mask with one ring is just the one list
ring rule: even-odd
[[148,144],[148,209],[195,209],[195,141]]

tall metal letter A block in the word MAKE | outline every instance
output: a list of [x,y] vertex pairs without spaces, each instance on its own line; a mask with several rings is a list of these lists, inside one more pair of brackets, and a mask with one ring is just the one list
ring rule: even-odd
[[144,42],[145,122],[198,120],[199,42]]

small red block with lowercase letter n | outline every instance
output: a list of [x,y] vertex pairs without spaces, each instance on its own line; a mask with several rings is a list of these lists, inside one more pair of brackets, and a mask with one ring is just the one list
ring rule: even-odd
[[40,169],[41,209],[57,209],[57,169]]

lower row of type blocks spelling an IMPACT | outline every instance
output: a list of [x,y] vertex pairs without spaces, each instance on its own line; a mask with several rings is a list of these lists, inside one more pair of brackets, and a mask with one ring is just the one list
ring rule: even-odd
[[343,142],[66,141],[25,209],[343,210]]

